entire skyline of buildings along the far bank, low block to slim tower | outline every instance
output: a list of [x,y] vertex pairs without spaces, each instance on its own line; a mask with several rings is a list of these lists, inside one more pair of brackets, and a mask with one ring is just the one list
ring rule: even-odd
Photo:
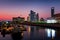
[[[24,22],[24,17],[13,17],[12,21],[14,23]],[[51,17],[47,17],[47,19],[39,18],[39,13],[30,10],[30,13],[27,17],[27,21],[29,22],[46,22],[46,23],[60,23],[60,13],[55,14],[55,7],[51,7]],[[3,22],[2,22],[3,23]],[[8,23],[8,22],[6,22]],[[1,23],[0,23],[1,25]]]

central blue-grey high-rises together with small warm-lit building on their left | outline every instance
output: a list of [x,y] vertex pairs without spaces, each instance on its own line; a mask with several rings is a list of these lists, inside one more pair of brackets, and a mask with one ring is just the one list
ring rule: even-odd
[[39,21],[39,14],[31,10],[29,16],[27,17],[27,21]]

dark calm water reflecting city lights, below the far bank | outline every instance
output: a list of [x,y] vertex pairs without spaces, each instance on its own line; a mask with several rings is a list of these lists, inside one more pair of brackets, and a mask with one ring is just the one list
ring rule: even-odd
[[[36,26],[26,26],[27,31],[22,33],[22,40],[60,40],[60,31],[54,29],[40,28]],[[2,37],[0,40],[12,40],[11,35]]]

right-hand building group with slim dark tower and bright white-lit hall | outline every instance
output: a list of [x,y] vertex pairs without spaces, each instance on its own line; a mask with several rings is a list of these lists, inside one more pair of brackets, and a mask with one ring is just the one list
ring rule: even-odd
[[51,7],[51,17],[47,18],[47,23],[60,23],[60,13],[55,14],[55,8]]

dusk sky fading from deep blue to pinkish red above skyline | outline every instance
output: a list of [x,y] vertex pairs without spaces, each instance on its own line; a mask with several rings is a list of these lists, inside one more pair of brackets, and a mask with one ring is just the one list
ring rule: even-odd
[[51,7],[55,7],[55,14],[60,13],[59,0],[0,0],[0,20],[12,20],[12,17],[29,16],[30,10],[39,13],[39,18],[48,18]]

